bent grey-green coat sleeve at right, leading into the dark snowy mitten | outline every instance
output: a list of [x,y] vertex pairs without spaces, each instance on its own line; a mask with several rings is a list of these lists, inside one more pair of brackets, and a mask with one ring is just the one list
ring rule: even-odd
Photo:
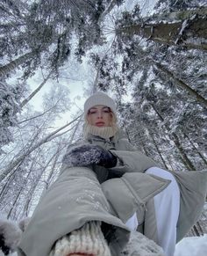
[[118,157],[118,164],[111,168],[113,172],[120,174],[145,172],[150,167],[160,167],[152,158],[135,149],[128,140],[124,141],[124,145],[123,150],[110,150],[114,156]]

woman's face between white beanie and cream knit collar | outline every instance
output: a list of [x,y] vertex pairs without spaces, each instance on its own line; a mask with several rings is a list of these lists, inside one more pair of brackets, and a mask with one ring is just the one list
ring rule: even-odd
[[112,124],[112,113],[108,106],[93,106],[89,109],[87,119],[90,125],[96,127],[110,127]]

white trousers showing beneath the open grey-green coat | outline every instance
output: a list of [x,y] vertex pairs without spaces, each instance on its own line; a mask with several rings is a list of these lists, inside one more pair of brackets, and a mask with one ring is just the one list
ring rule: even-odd
[[[180,211],[180,190],[174,176],[158,167],[151,167],[146,173],[170,179],[171,183],[161,193],[154,196],[154,208],[157,223],[159,245],[166,256],[173,256],[176,244],[176,224]],[[136,213],[125,223],[130,230],[136,230]]]

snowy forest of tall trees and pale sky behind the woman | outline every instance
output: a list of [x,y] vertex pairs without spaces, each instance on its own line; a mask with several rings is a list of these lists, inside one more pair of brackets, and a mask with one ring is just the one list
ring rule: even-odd
[[[163,168],[207,169],[205,0],[1,0],[0,49],[1,216],[32,215],[94,91]],[[189,236],[204,233],[207,207]]]

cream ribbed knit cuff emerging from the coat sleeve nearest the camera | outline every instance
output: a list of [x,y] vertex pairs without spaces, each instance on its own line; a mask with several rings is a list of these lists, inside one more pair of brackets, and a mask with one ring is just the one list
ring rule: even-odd
[[[75,254],[76,253],[76,254]],[[49,256],[111,256],[100,222],[89,222],[59,239]]]

